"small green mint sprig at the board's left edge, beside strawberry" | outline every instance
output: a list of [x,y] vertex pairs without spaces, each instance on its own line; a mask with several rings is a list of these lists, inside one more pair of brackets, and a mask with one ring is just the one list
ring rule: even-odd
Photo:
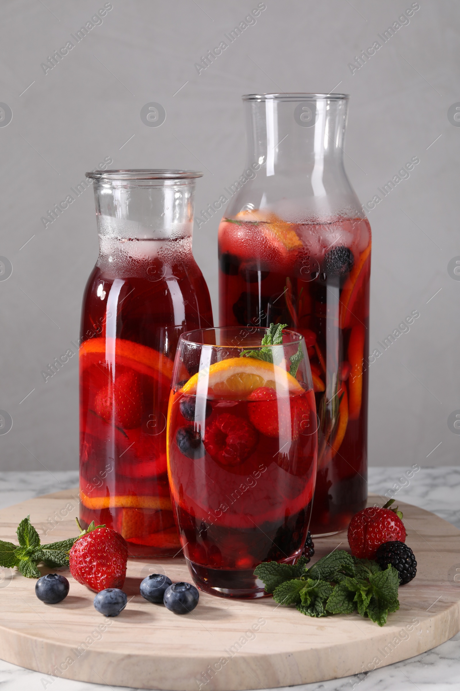
[[6,569],[17,567],[26,578],[40,578],[37,564],[43,562],[51,569],[67,566],[69,550],[78,538],[41,545],[39,533],[30,523],[30,515],[23,518],[17,527],[18,545],[0,540],[0,566]]

